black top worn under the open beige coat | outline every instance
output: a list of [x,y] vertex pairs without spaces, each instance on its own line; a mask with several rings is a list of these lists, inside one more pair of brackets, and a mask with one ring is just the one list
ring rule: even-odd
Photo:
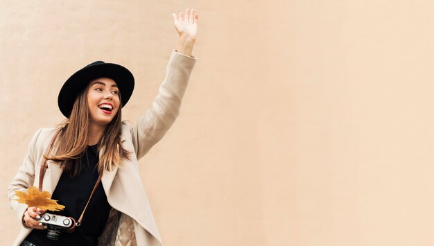
[[[76,221],[80,218],[98,180],[98,159],[96,145],[88,146],[80,159],[80,174],[71,177],[67,172],[62,173],[51,198],[58,200],[58,204],[64,205],[65,208],[60,212],[47,211],[48,213],[72,217]],[[47,230],[33,229],[26,240],[38,246],[98,245],[98,237],[103,233],[110,209],[103,185],[100,183],[87,206],[80,227],[76,227],[73,233],[62,232],[59,240],[55,241],[46,238]]]

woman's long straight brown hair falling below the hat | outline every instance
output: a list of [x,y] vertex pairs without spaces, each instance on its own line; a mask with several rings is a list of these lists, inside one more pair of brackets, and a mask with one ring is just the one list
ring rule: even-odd
[[[86,151],[89,143],[90,113],[87,106],[86,87],[78,94],[73,103],[71,115],[58,125],[51,146],[44,155],[45,159],[62,161],[62,168],[71,176],[80,174],[80,158]],[[104,170],[112,170],[114,166],[121,166],[121,158],[130,159],[128,150],[121,146],[122,126],[122,101],[119,93],[119,110],[105,126],[103,136],[98,143],[98,151],[103,150],[103,155],[98,161],[98,173],[103,174]]]

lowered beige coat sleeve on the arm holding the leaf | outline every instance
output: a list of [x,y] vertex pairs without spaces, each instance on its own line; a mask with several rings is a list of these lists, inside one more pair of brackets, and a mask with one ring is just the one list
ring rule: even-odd
[[35,180],[35,161],[36,161],[36,151],[35,146],[37,143],[37,138],[42,132],[42,128],[37,130],[32,137],[30,144],[28,145],[28,152],[24,158],[23,164],[18,169],[17,175],[12,179],[12,182],[8,186],[8,197],[10,202],[10,207],[17,213],[18,220],[21,222],[24,215],[24,211],[27,209],[26,204],[21,204],[15,201],[17,197],[15,196],[15,191],[24,191],[30,186],[33,186],[33,181]]

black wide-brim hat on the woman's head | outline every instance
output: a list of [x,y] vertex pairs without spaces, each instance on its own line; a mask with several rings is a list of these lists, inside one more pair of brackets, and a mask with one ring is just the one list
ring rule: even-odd
[[60,112],[69,118],[78,94],[87,87],[91,80],[102,77],[111,78],[116,82],[121,92],[122,107],[125,106],[134,90],[134,76],[128,69],[119,64],[98,61],[76,71],[64,82],[58,97]]

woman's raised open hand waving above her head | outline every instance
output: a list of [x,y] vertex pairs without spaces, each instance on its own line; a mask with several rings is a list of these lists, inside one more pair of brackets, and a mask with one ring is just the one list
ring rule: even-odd
[[180,12],[179,15],[173,13],[172,15],[175,29],[180,38],[195,41],[198,35],[199,15],[193,9],[190,11],[188,8],[185,13]]

